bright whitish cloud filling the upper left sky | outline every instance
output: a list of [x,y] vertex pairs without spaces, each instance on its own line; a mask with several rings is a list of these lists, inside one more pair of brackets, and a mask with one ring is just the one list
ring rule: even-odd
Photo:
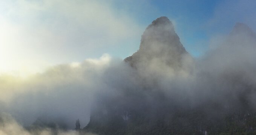
[[48,66],[100,57],[111,48],[121,48],[121,41],[129,43],[128,40],[139,37],[136,21],[114,9],[111,2],[1,3],[5,8],[0,13],[0,72],[27,76]]

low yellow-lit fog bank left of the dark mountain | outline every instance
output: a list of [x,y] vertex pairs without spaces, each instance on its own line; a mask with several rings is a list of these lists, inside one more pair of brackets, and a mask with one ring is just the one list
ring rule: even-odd
[[104,54],[99,59],[86,59],[82,63],[52,66],[26,79],[1,75],[1,111],[11,113],[26,126],[38,117],[69,117],[64,123],[71,129],[74,120],[80,118],[81,126],[85,126],[94,93],[104,89],[101,74],[110,63],[110,56]]

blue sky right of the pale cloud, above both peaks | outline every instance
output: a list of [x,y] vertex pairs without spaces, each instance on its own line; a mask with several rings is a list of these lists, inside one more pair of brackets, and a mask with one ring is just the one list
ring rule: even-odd
[[[211,38],[228,34],[236,22],[246,23],[255,30],[253,0],[114,1],[113,5],[114,9],[128,12],[144,28],[158,17],[168,17],[175,24],[182,44],[194,57],[202,56],[209,49]],[[139,39],[134,40],[138,46]]]

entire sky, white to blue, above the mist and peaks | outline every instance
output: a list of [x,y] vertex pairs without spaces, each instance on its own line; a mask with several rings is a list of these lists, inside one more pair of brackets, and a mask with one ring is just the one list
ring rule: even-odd
[[210,37],[228,33],[236,22],[255,31],[255,14],[254,0],[0,0],[0,74],[23,77],[104,53],[125,58],[161,16],[200,57]]

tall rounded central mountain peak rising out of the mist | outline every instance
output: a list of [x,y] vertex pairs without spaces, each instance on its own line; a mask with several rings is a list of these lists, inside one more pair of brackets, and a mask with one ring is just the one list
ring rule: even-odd
[[172,22],[167,17],[154,20],[141,36],[139,50],[124,59],[131,66],[143,67],[156,64],[174,69],[181,67],[183,54],[188,54],[176,34]]

